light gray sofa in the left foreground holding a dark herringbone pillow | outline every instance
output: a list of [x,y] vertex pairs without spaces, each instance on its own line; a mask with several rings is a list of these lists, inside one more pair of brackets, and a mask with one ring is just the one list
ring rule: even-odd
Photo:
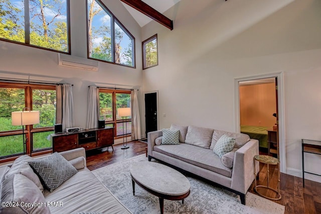
[[[30,171],[29,165],[21,163],[19,166],[14,163],[12,168],[15,167],[15,170],[10,170],[9,166],[1,166],[1,202],[2,204],[8,202],[7,205],[11,206],[8,201],[10,198],[13,201],[20,201],[20,204],[15,204],[19,205],[15,207],[0,206],[0,213],[131,213],[86,167],[84,148],[60,154],[78,172],[52,192],[43,190],[41,185],[31,181],[37,175],[32,174],[33,171]],[[26,158],[30,159],[29,156]],[[11,175],[6,176],[8,173]],[[39,192],[43,194],[44,198],[39,195]],[[35,194],[39,196],[35,199],[36,201],[31,201],[32,198],[35,198]],[[4,198],[7,200],[3,200]],[[34,207],[26,207],[27,202],[29,205],[34,204]]]

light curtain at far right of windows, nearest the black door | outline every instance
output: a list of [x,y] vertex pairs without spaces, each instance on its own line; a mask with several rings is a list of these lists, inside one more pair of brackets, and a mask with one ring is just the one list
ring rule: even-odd
[[138,93],[138,90],[132,90],[130,94],[131,140],[140,140],[140,117],[139,117],[137,93]]

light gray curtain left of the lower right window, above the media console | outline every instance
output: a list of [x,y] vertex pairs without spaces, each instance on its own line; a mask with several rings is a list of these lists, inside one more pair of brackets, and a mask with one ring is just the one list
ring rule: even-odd
[[98,127],[99,119],[99,88],[89,86],[87,124],[86,128],[93,129]]

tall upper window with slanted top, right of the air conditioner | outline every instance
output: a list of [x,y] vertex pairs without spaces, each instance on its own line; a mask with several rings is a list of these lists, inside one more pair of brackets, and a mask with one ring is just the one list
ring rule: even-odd
[[135,39],[99,1],[87,0],[88,58],[135,67]]

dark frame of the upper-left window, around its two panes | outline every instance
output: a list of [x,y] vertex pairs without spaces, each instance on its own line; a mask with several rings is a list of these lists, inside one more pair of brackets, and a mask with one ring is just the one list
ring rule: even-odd
[[[24,0],[24,4],[25,4],[25,10],[24,10],[24,14],[25,14],[25,19],[24,19],[24,24],[25,24],[25,42],[18,42],[18,41],[14,41],[14,40],[9,40],[9,39],[5,39],[5,38],[1,38],[0,37],[0,41],[5,41],[5,42],[10,42],[10,43],[15,43],[15,44],[19,44],[19,45],[25,45],[25,46],[29,46],[29,47],[33,47],[33,48],[39,48],[39,49],[43,49],[43,50],[47,50],[47,51],[54,51],[54,52],[58,52],[58,53],[64,53],[64,54],[71,54],[71,44],[70,44],[70,3],[69,0],[66,0],[66,4],[67,4],[67,42],[68,42],[68,51],[64,52],[64,51],[60,51],[60,50],[55,50],[55,49],[51,49],[51,48],[45,48],[45,47],[41,47],[41,46],[37,46],[37,45],[33,45],[30,44],[30,13],[29,13],[29,0]],[[28,13],[26,12],[26,6],[28,6]]]

